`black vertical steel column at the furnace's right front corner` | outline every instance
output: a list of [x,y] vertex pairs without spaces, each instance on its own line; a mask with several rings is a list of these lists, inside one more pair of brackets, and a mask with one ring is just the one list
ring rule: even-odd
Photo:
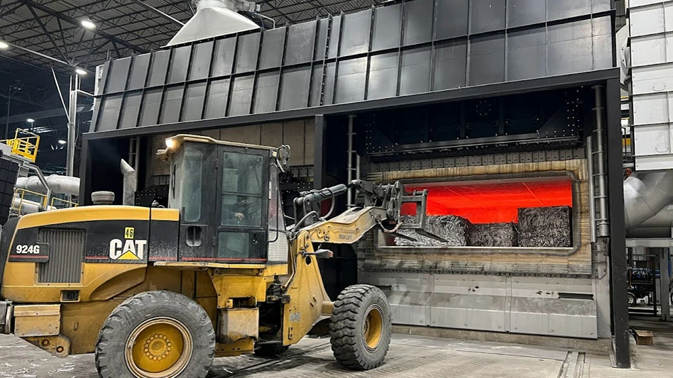
[[617,367],[631,366],[628,326],[626,240],[624,221],[624,175],[622,167],[622,131],[620,126],[619,79],[606,81],[606,155],[610,222],[610,269],[612,328]]

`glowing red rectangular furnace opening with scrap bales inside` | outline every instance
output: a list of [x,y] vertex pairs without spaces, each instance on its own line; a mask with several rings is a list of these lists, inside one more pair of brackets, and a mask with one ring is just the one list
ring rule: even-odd
[[[414,183],[406,189],[427,189],[425,228],[439,238],[403,226],[398,235],[384,237],[380,246],[573,246],[573,181],[569,176]],[[403,223],[415,223],[415,213],[414,204],[403,206]]]

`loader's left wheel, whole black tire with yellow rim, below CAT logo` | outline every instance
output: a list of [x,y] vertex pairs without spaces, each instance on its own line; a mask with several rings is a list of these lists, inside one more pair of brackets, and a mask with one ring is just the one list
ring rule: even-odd
[[117,306],[98,335],[102,378],[204,378],[215,333],[204,309],[172,291],[136,294]]

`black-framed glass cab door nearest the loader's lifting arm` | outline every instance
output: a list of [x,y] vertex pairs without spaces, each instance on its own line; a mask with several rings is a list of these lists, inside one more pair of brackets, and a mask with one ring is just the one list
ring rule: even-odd
[[266,263],[269,152],[221,146],[217,163],[217,262]]

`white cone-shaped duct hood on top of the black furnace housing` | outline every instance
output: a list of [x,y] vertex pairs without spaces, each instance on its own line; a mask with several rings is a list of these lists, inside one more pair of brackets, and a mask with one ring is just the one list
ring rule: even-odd
[[259,29],[259,26],[236,13],[237,11],[256,11],[254,1],[245,0],[198,0],[197,12],[182,26],[167,46],[213,38],[218,35]]

